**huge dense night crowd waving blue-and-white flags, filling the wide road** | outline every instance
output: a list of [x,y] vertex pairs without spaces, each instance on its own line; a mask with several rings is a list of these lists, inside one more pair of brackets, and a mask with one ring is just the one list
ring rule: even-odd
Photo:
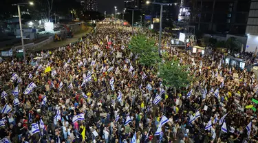
[[129,50],[131,36],[156,34],[96,29],[85,41],[30,55],[27,64],[0,63],[1,142],[256,142],[253,73],[228,67],[219,53],[171,47],[170,58],[193,77],[175,90]]

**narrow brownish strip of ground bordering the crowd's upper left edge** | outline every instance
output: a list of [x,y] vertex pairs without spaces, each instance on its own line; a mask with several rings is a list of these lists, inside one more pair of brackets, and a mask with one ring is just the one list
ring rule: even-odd
[[52,42],[52,43],[49,43],[47,45],[44,45],[43,47],[41,48],[34,48],[32,50],[30,50],[30,52],[33,52],[33,51],[40,51],[40,50],[50,50],[54,47],[61,47],[63,45],[68,45],[69,43],[74,43],[76,41],[79,41],[80,37],[82,36],[85,36],[86,34],[88,34],[90,31],[92,30],[92,28],[88,28],[87,31],[85,32],[79,32],[77,34],[74,34],[74,37],[72,39],[66,39],[65,41],[58,41],[58,42]]

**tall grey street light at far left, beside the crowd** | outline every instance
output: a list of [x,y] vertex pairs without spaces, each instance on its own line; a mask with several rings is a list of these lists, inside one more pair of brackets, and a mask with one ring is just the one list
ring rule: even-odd
[[24,5],[34,5],[33,2],[29,2],[29,3],[17,3],[17,4],[12,4],[13,6],[17,5],[18,8],[18,15],[19,15],[19,25],[20,25],[20,31],[21,31],[21,47],[23,48],[23,61],[24,63],[26,63],[26,57],[25,57],[25,48],[24,48],[24,42],[23,42],[23,28],[21,25],[21,10],[20,10],[20,5],[24,6]]

